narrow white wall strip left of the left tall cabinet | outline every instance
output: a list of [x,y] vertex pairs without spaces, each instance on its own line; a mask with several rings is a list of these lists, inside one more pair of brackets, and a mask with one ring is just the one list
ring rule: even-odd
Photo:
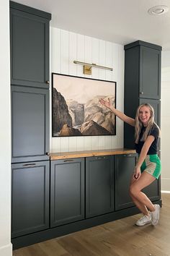
[[9,1],[0,2],[0,256],[12,255]]

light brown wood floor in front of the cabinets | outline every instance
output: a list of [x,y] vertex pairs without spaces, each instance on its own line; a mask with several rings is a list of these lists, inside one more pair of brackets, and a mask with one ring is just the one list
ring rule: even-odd
[[140,215],[16,249],[14,256],[169,256],[170,194],[162,195],[157,226],[135,226]]

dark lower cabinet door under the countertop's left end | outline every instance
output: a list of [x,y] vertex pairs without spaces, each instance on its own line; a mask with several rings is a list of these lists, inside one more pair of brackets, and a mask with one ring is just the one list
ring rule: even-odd
[[84,158],[51,161],[50,227],[84,219]]

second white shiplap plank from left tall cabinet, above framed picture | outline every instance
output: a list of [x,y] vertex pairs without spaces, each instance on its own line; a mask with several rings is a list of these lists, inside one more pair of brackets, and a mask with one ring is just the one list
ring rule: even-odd
[[61,74],[69,74],[68,43],[68,31],[61,30]]

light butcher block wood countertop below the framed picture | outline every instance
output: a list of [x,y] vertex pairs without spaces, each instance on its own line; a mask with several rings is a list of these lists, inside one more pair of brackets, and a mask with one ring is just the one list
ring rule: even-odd
[[61,153],[50,153],[50,160],[68,159],[68,158],[85,158],[89,156],[101,156],[101,155],[123,155],[133,154],[135,150],[126,148],[115,148],[107,150],[88,150],[88,151],[72,151]]

